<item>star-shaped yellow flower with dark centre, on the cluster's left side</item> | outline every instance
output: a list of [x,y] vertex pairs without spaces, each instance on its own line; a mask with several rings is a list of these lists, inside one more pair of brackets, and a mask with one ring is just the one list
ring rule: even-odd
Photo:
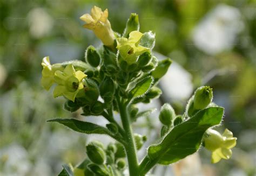
[[63,72],[56,71],[54,80],[58,85],[53,91],[53,96],[63,95],[74,102],[78,91],[84,88],[82,81],[86,76],[82,71],[75,71],[72,64],[66,66]]

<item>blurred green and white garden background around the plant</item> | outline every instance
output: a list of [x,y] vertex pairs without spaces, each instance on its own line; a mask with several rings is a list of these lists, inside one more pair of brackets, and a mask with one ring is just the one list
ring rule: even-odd
[[[62,110],[64,99],[43,90],[40,79],[43,57],[49,55],[52,63],[82,60],[87,46],[100,45],[79,19],[93,5],[109,9],[119,33],[130,13],[138,13],[140,31],[156,32],[154,51],[186,69],[193,89],[213,88],[214,102],[225,107],[219,129],[233,131],[238,144],[232,159],[215,165],[210,153],[200,150],[202,174],[255,175],[254,0],[0,1],[0,174],[56,175],[62,164],[85,156],[86,136],[46,123],[78,113]],[[182,112],[187,98],[161,100]]]

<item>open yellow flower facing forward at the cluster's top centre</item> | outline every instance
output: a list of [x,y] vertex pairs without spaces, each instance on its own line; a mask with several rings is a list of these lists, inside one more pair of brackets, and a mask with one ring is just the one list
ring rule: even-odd
[[117,49],[119,50],[123,59],[129,64],[135,62],[140,54],[150,50],[149,48],[139,45],[142,36],[143,33],[139,31],[132,31],[129,34],[128,39],[123,37],[117,38]]

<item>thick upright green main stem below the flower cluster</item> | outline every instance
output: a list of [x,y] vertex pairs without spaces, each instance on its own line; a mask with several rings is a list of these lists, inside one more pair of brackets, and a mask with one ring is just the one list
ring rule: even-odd
[[125,104],[123,101],[120,101],[118,96],[116,96],[116,98],[120,112],[120,117],[122,119],[123,128],[125,130],[126,145],[124,147],[129,165],[129,173],[131,176],[137,176],[139,175],[139,165],[136,153],[136,146],[132,133],[131,121],[130,117],[127,114],[127,104]]

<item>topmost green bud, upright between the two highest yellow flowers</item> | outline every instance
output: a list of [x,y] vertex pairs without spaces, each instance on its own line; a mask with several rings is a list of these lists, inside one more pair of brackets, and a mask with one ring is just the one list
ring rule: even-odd
[[139,31],[139,16],[136,13],[131,13],[130,18],[127,20],[123,37],[128,38],[129,33],[132,31]]

